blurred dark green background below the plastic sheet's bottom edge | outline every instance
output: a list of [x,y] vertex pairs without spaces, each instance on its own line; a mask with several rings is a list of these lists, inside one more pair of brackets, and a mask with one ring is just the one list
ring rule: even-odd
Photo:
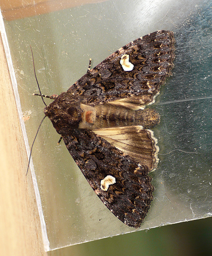
[[48,256],[211,256],[212,218],[104,238],[52,252]]

